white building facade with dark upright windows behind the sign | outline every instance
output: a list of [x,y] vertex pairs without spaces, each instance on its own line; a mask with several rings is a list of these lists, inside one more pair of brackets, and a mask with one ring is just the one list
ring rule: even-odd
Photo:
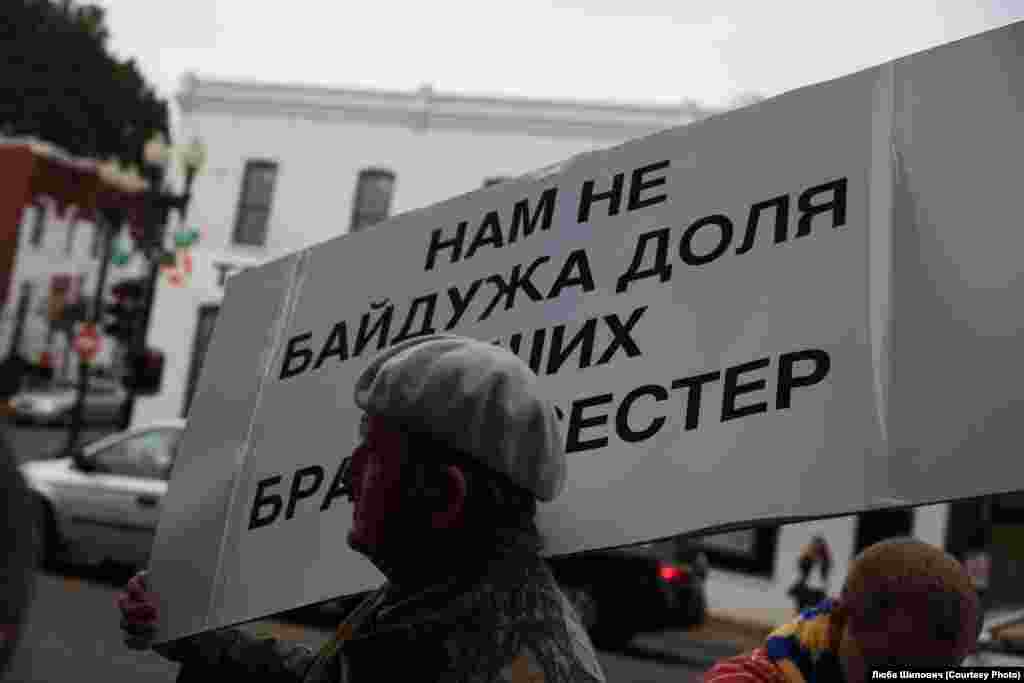
[[[178,96],[180,138],[201,136],[206,167],[188,224],[201,241],[181,286],[162,279],[148,343],[166,354],[160,394],[134,422],[184,416],[227,276],[387,215],[527,173],[711,114],[640,106],[200,80]],[[353,283],[358,286],[358,283]],[[713,606],[792,606],[786,590],[814,533],[831,548],[830,588],[862,546],[912,533],[945,545],[949,506],[872,513],[707,539]]]

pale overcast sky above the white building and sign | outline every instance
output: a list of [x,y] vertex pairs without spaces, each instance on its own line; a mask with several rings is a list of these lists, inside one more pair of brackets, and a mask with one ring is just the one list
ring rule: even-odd
[[[95,1],[95,0],[94,0]],[[98,0],[163,96],[201,76],[722,105],[1024,19],[1024,0]]]

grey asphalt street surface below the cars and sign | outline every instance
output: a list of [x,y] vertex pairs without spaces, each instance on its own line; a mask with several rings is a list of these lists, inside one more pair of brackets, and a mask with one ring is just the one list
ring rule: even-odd
[[[115,574],[117,572],[114,572]],[[135,652],[121,642],[114,606],[127,577],[78,569],[39,575],[38,592],[27,630],[6,680],[51,683],[83,680],[120,683],[171,683],[178,667],[153,652]],[[317,647],[328,632],[292,623],[257,622],[251,631],[268,633]],[[700,671],[656,646],[669,636],[638,638],[623,652],[601,652],[608,681],[686,683]]]

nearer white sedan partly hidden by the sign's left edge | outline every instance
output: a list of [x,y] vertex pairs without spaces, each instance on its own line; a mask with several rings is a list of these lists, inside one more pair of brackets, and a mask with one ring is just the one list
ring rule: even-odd
[[23,463],[42,511],[40,560],[144,566],[184,427],[184,420],[153,423],[73,456]]

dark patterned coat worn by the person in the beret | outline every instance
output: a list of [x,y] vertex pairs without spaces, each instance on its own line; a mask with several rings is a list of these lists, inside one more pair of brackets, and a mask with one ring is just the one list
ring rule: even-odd
[[164,646],[178,683],[603,683],[593,645],[544,561],[505,556],[412,595],[385,585],[319,651],[237,629]]

